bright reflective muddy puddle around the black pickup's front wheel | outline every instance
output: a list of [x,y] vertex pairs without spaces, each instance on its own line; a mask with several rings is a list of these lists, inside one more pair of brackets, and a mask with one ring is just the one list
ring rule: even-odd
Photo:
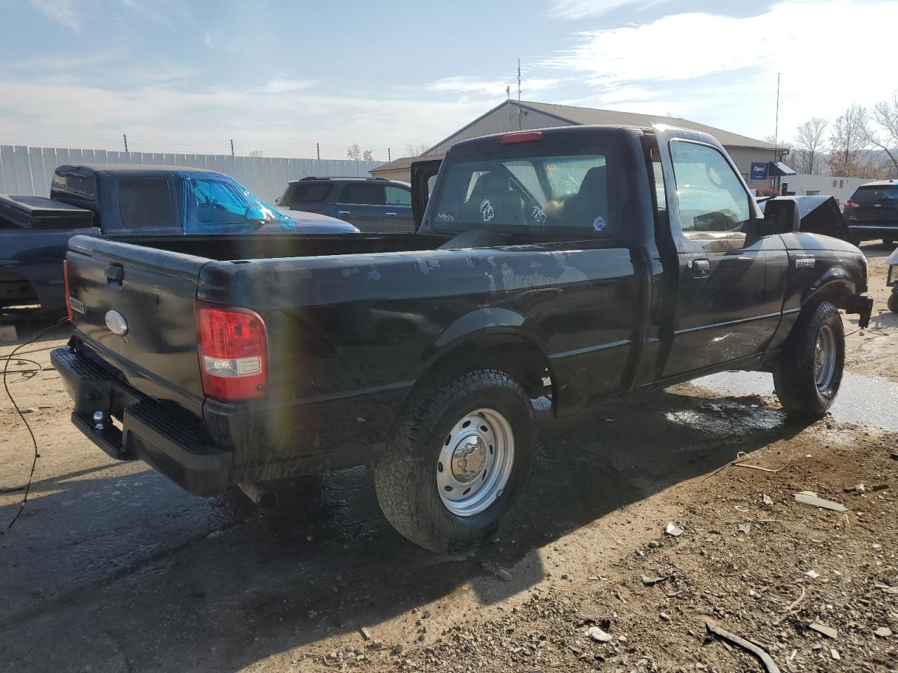
[[[691,385],[724,396],[773,396],[773,376],[763,371],[723,371],[693,380]],[[898,384],[846,371],[830,413],[841,423],[898,431]]]

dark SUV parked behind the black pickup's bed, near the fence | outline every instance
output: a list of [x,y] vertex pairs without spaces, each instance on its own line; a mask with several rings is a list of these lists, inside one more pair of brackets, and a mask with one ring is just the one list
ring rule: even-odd
[[291,180],[277,205],[337,217],[363,232],[415,231],[408,182],[383,178]]

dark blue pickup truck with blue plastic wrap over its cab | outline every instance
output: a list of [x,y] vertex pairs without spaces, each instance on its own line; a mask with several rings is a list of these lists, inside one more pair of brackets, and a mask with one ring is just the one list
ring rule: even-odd
[[50,196],[0,196],[0,310],[65,310],[62,262],[76,234],[139,236],[355,233],[317,213],[286,215],[215,170],[179,166],[66,165]]

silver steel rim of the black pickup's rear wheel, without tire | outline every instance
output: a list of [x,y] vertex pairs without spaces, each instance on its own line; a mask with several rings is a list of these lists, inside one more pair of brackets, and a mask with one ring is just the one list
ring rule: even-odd
[[443,506],[472,517],[505,492],[515,464],[515,434],[496,409],[463,415],[446,435],[436,459],[436,489]]

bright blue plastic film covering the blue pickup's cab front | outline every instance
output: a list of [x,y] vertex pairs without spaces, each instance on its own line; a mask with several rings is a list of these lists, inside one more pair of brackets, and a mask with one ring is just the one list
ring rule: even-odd
[[295,227],[291,218],[234,179],[188,178],[184,183],[185,233],[255,232],[269,222]]

